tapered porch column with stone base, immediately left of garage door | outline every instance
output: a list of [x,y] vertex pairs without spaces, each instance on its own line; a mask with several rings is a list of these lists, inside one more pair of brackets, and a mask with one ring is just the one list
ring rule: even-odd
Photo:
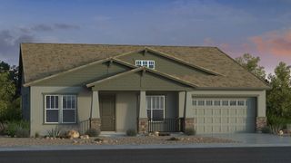
[[186,91],[185,93],[185,129],[194,129],[195,119],[192,105],[192,93]]

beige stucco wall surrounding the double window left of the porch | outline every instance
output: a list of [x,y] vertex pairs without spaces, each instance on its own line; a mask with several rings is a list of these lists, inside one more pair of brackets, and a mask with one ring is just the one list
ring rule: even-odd
[[[46,135],[47,130],[55,129],[55,124],[45,124],[44,94],[64,94],[72,93],[77,95],[77,121],[88,120],[91,110],[92,91],[83,87],[40,87],[32,86],[30,88],[30,126],[31,135],[35,132]],[[77,125],[59,125],[59,128],[78,129]]]

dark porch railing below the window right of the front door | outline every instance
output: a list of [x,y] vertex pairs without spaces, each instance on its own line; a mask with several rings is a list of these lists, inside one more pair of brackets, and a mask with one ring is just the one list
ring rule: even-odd
[[184,119],[148,119],[148,132],[180,132],[184,131]]

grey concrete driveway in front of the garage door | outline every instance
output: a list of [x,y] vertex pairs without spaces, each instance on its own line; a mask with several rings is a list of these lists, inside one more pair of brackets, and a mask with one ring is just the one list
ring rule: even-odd
[[260,133],[204,134],[200,136],[233,139],[242,144],[254,146],[291,146],[290,136],[276,136]]

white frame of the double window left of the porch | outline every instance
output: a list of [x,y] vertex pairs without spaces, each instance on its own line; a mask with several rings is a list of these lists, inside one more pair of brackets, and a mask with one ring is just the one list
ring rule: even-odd
[[[55,96],[58,97],[58,108],[46,108],[46,97],[47,96]],[[63,105],[63,98],[64,97],[71,97],[71,98],[75,98],[75,108],[70,108],[70,109],[64,109],[64,105]],[[71,100],[72,101],[72,100]],[[45,94],[45,124],[75,124],[76,123],[76,110],[77,110],[77,97],[74,94]],[[73,103],[71,103],[72,106]],[[58,110],[58,121],[56,122],[47,122],[46,121],[46,110]],[[75,110],[75,118],[74,118],[74,122],[64,122],[64,110]]]

